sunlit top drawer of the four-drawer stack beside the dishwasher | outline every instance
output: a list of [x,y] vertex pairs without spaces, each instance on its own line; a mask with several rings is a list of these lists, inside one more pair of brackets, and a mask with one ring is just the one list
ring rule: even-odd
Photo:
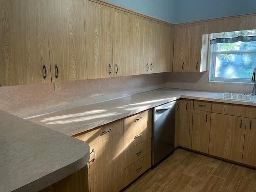
[[144,112],[140,112],[136,115],[127,117],[124,119],[124,131],[132,128],[134,126],[138,126],[144,122],[152,120],[152,110],[146,110]]

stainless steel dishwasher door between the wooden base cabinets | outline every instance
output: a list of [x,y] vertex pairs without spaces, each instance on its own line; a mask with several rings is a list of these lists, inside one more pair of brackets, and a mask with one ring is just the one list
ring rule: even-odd
[[153,109],[152,165],[174,151],[176,101]]

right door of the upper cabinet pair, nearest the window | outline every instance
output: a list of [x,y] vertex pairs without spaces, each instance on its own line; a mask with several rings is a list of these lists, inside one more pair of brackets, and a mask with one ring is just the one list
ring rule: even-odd
[[200,72],[203,25],[188,26],[187,71]]

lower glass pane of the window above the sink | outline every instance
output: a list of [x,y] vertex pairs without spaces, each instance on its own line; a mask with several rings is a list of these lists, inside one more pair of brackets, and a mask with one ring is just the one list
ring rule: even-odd
[[215,77],[252,78],[256,68],[256,53],[217,54]]

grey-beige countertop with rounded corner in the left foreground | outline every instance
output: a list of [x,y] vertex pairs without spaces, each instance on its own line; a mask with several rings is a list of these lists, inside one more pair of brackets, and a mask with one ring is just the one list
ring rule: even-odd
[[87,143],[0,110],[0,191],[36,192],[86,166]]

